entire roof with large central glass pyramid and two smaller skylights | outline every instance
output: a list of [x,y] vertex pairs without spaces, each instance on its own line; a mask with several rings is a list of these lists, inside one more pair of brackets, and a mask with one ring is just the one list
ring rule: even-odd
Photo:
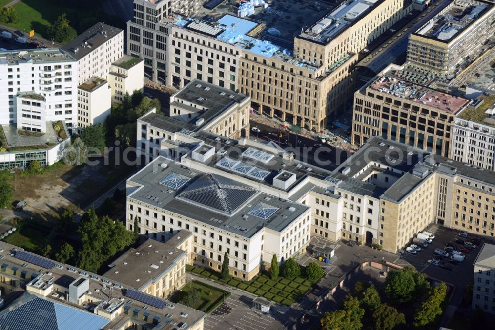
[[305,205],[261,193],[227,176],[191,169],[161,156],[128,182],[140,186],[128,190],[128,199],[246,238],[263,227],[282,231],[308,210]]

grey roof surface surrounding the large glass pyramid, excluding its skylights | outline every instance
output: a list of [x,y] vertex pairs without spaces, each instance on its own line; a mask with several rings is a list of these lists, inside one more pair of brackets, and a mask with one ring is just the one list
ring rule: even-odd
[[[167,165],[165,168],[161,166],[163,163]],[[171,173],[187,177],[189,180],[185,179],[186,182],[184,185],[178,189],[173,189],[159,183]],[[282,231],[286,226],[292,223],[292,221],[296,220],[302,213],[309,209],[306,205],[256,192],[253,196],[249,197],[234,214],[228,216],[215,212],[214,208],[207,209],[192,202],[176,198],[178,194],[187,189],[189,185],[194,184],[194,182],[203,174],[205,173],[176,164],[159,156],[128,179],[128,181],[142,186],[130,193],[128,198],[163,209],[172,214],[201,221],[247,238],[253,236],[263,227],[267,227],[274,231]],[[221,180],[226,179],[221,175],[215,174],[215,176],[219,177]],[[263,203],[264,205],[278,210],[268,217],[267,220],[249,214],[253,208],[259,206],[259,203]]]

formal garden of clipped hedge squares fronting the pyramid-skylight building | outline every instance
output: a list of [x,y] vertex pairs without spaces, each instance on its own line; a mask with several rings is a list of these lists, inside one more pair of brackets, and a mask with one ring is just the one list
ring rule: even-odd
[[[218,279],[218,273],[213,270],[203,270],[189,265],[186,267],[186,270],[194,274],[209,277],[210,279]],[[290,306],[317,281],[311,282],[303,277],[288,279],[282,276],[279,276],[277,279],[270,279],[268,275],[258,274],[248,282],[241,281],[237,278],[229,280],[220,279],[220,282]]]

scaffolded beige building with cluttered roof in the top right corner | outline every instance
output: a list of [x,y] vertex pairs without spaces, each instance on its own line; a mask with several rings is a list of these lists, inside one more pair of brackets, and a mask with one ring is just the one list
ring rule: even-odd
[[456,0],[409,35],[407,60],[447,72],[495,31],[493,2]]

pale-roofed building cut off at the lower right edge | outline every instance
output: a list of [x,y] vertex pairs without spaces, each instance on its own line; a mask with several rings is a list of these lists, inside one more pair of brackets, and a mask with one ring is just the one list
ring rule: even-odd
[[495,315],[495,245],[485,243],[474,262],[473,309]]

